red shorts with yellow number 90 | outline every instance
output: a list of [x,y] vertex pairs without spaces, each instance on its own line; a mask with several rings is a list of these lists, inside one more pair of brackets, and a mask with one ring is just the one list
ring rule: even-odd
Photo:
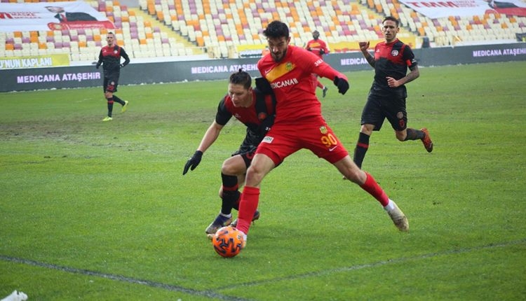
[[338,162],[349,155],[323,119],[308,120],[307,123],[295,125],[274,124],[257,146],[256,153],[267,155],[278,165],[302,148],[309,149],[318,158],[330,163]]

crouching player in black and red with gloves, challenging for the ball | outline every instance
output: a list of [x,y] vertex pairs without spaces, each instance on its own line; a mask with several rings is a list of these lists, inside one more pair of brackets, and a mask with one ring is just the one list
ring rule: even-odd
[[[264,91],[267,94],[264,94]],[[268,94],[270,93],[270,94]],[[241,69],[230,76],[228,94],[221,99],[217,106],[215,120],[206,130],[201,144],[197,151],[184,165],[182,174],[188,170],[194,170],[201,162],[203,153],[219,137],[221,130],[234,116],[247,127],[246,136],[243,143],[230,158],[224,160],[221,167],[222,186],[220,197],[222,199],[220,214],[214,219],[205,233],[212,239],[217,230],[225,225],[230,225],[232,221],[232,208],[238,210],[239,183],[243,185],[245,172],[252,162],[252,157],[259,142],[270,129],[274,122],[275,99],[270,88],[260,87],[252,89],[252,78],[250,74]],[[259,211],[255,210],[251,221],[259,218]],[[234,221],[233,225],[236,225]]]

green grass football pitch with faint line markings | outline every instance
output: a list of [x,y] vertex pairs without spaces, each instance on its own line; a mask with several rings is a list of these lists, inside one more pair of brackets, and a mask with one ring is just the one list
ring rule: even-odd
[[[231,121],[182,176],[227,79],[121,86],[102,123],[100,87],[0,94],[0,297],[29,300],[523,300],[526,62],[422,67],[409,126],[389,125],[363,168],[410,221],[309,151],[262,183],[247,248],[220,258],[204,230],[220,209]],[[372,71],[329,80],[323,115],[352,152]],[[317,90],[321,96],[321,90]]]

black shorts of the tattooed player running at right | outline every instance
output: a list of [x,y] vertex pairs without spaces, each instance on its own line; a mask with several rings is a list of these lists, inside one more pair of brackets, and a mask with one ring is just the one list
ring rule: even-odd
[[375,125],[379,131],[387,118],[393,130],[402,131],[407,128],[407,112],[405,111],[405,87],[392,91],[371,87],[367,103],[363,107],[361,124]]

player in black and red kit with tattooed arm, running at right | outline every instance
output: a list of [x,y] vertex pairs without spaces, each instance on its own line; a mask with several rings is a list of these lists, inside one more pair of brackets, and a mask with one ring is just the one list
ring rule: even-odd
[[[399,141],[422,140],[426,151],[433,151],[433,141],[426,128],[414,130],[407,127],[405,84],[419,77],[417,60],[409,45],[396,38],[400,30],[396,18],[386,17],[382,22],[384,41],[375,47],[374,57],[367,51],[369,42],[360,42],[360,50],[375,69],[367,103],[361,118],[360,135],[354,149],[354,162],[361,168],[372,131],[379,131],[387,118]],[[409,69],[409,73],[407,73]]]

